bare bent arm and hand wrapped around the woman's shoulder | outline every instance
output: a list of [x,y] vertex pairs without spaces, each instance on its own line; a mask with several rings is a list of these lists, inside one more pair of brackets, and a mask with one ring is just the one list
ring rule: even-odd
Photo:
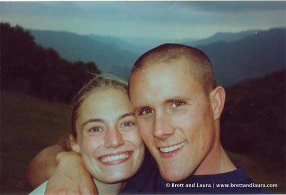
[[81,155],[61,145],[43,149],[30,162],[26,178],[33,187],[48,179],[45,194],[97,194]]

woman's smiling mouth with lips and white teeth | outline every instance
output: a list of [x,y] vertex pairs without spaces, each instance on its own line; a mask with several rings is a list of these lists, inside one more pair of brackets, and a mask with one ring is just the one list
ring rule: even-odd
[[99,160],[102,161],[103,163],[116,164],[116,163],[126,161],[130,157],[130,155],[132,155],[132,153],[133,153],[132,151],[110,153],[110,154],[100,156]]

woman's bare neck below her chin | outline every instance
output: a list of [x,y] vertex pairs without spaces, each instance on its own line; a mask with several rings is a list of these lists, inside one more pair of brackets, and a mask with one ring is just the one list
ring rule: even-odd
[[96,184],[98,194],[118,194],[125,184],[125,182],[108,184],[96,180],[95,178],[93,178],[93,181]]

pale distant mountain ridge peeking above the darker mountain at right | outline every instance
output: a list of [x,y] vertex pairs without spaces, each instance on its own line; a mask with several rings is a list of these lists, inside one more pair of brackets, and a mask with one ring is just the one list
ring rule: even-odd
[[248,35],[254,35],[261,30],[247,30],[247,31],[241,31],[241,32],[218,32],[208,38],[204,39],[199,39],[196,41],[185,41],[184,44],[194,46],[196,47],[197,45],[206,45],[211,42],[218,42],[218,41],[227,41],[227,42],[235,42],[245,36]]

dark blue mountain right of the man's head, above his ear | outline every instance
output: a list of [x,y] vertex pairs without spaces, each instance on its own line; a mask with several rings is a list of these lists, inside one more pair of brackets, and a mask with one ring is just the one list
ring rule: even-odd
[[260,31],[235,42],[197,46],[211,59],[218,84],[232,85],[286,66],[286,29]]

